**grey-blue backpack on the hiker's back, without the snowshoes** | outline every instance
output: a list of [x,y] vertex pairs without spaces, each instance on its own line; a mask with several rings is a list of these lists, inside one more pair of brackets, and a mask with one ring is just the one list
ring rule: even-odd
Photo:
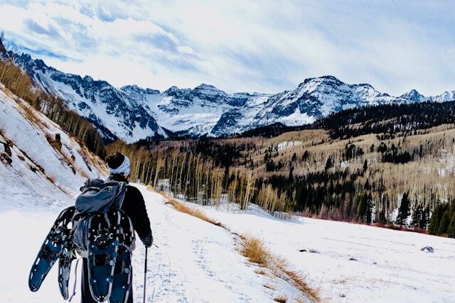
[[72,241],[79,255],[87,258],[88,223],[92,215],[121,209],[126,190],[126,182],[101,179],[88,179],[80,188],[72,228]]

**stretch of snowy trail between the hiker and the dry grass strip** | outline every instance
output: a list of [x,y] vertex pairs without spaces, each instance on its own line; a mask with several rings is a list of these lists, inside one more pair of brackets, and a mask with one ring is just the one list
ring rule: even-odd
[[[234,236],[173,206],[164,197],[137,185],[151,217],[148,302],[273,302],[264,277],[235,250]],[[134,297],[141,298],[144,246],[134,252]],[[139,270],[140,269],[140,270]]]

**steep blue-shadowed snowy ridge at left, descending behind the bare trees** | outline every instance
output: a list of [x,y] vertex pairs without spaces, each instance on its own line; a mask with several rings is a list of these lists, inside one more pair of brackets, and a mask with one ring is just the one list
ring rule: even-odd
[[166,131],[141,104],[109,83],[90,76],[65,74],[26,54],[16,55],[14,60],[46,92],[60,97],[70,109],[89,119],[105,138],[134,141],[166,136]]

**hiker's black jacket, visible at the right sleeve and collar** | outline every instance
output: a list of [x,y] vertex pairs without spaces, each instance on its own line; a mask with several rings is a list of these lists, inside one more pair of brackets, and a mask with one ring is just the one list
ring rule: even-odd
[[[107,180],[127,182],[122,175],[109,175]],[[134,230],[139,238],[144,239],[151,236],[150,220],[145,207],[144,197],[139,189],[132,185],[127,186],[125,198],[122,204],[122,210],[129,216],[133,223]]]

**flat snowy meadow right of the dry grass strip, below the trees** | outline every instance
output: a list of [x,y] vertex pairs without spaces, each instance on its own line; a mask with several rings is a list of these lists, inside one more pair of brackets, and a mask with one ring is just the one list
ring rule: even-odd
[[[455,302],[453,238],[309,218],[279,221],[254,207],[246,214],[202,208],[232,231],[262,238],[319,285],[327,302]],[[434,253],[423,252],[425,246]]]

